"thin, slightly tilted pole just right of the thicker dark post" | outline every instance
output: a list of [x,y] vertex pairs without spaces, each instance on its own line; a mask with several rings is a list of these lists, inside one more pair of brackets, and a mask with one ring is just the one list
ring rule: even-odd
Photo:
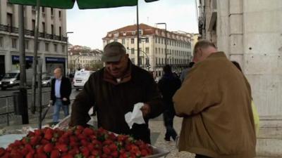
[[[33,56],[33,77],[32,77],[32,114],[35,114],[35,103],[36,103],[36,77],[37,77],[37,49],[38,49],[38,28],[39,28],[39,14],[40,14],[40,0],[37,0],[36,6],[36,22],[35,22],[35,46]],[[38,83],[39,84],[39,83]]]

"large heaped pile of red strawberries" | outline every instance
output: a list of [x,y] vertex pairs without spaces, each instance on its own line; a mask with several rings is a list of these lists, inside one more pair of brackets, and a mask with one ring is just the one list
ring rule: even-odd
[[6,149],[0,148],[1,158],[128,158],[146,157],[152,147],[142,140],[118,135],[104,129],[76,126],[61,129],[37,129]]

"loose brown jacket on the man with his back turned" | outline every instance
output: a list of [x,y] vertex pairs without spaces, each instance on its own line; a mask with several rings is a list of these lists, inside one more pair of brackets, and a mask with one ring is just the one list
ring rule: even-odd
[[179,150],[214,158],[255,157],[251,89],[223,52],[198,62],[173,96],[184,117]]

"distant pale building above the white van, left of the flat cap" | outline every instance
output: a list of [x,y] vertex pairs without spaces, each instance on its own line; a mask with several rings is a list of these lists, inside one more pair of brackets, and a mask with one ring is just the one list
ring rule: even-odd
[[68,66],[70,72],[78,69],[93,70],[96,64],[101,64],[102,51],[92,50],[85,46],[70,46],[68,49]]

